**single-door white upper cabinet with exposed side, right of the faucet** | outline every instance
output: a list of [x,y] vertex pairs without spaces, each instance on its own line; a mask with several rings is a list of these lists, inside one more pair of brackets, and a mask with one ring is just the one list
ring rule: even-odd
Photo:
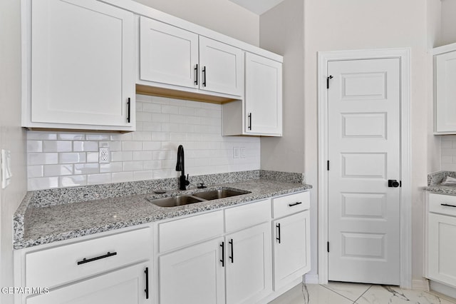
[[245,53],[244,101],[223,104],[223,135],[282,136],[282,64]]

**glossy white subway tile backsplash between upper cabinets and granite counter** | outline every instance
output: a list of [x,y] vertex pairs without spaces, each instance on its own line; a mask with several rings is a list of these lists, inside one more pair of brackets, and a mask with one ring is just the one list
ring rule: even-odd
[[[175,178],[177,146],[185,148],[190,176],[260,168],[256,137],[222,136],[222,106],[155,96],[136,98],[137,131],[132,133],[56,133],[28,131],[28,189]],[[442,141],[455,164],[456,136]],[[233,158],[233,147],[246,158]],[[110,163],[99,163],[99,148],[110,148]]]

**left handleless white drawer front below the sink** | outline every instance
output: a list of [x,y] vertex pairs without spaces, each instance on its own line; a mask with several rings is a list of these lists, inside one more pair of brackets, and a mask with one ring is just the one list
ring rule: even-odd
[[158,224],[160,253],[223,234],[223,211]]

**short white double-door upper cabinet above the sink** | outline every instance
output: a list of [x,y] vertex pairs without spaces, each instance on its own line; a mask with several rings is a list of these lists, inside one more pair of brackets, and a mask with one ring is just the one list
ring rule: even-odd
[[140,17],[139,56],[140,83],[242,96],[242,50],[234,46]]

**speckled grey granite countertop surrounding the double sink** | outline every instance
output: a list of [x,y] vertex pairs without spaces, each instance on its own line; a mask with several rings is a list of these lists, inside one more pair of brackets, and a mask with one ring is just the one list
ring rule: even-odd
[[[251,193],[168,208],[155,206],[146,199],[148,196],[163,198],[217,188],[235,188]],[[310,188],[312,188],[310,185],[304,183],[258,178],[212,185],[204,189],[197,189],[196,186],[193,186],[187,191],[170,190],[161,195],[136,194],[53,206],[29,205],[33,193],[27,193],[14,217],[14,249],[210,211],[261,198],[305,191]]]

